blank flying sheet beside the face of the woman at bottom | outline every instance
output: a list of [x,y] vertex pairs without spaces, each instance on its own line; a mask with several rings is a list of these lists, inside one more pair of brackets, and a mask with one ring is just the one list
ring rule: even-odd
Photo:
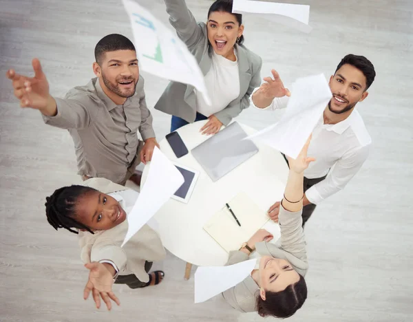
[[207,301],[244,281],[256,262],[257,259],[250,259],[230,266],[198,267],[195,272],[195,303]]

